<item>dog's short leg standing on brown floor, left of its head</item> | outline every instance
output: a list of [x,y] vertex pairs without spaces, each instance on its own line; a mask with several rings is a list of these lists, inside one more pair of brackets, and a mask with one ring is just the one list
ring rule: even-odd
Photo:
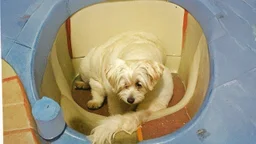
[[106,92],[104,87],[98,81],[90,79],[92,99],[88,101],[87,106],[90,109],[98,109],[102,106]]

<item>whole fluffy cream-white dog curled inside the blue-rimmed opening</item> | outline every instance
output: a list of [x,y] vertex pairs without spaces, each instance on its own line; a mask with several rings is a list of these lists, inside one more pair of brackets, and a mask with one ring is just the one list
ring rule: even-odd
[[79,71],[91,87],[93,98],[87,106],[99,108],[107,96],[112,115],[92,130],[93,143],[111,143],[120,131],[131,134],[152,112],[167,107],[173,80],[164,62],[160,41],[145,32],[117,35],[88,53]]

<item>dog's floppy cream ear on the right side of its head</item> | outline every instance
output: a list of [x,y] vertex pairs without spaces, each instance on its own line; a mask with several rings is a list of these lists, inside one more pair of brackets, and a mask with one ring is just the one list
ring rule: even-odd
[[145,60],[143,63],[142,67],[146,70],[149,79],[147,83],[148,89],[153,90],[158,80],[162,77],[164,65],[151,60]]

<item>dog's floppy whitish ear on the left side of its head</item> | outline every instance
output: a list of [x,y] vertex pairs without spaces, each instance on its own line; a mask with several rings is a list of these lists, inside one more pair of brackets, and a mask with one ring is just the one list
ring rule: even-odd
[[125,61],[121,59],[115,60],[113,63],[107,66],[105,69],[105,75],[112,86],[113,90],[116,91],[118,89],[118,83],[121,79],[121,73],[124,70]]

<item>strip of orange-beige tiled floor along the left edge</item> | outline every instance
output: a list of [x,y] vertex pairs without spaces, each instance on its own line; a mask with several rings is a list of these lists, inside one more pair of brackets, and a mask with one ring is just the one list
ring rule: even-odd
[[5,144],[38,144],[26,93],[11,66],[2,60],[3,127]]

